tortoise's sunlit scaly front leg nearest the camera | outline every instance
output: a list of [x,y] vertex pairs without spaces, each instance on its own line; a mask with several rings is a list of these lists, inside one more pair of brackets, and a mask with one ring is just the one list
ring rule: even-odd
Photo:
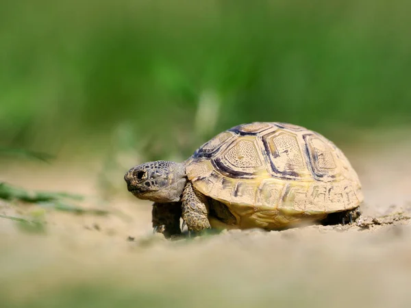
[[186,183],[182,197],[182,218],[186,222],[188,231],[202,231],[210,229],[208,221],[207,198]]

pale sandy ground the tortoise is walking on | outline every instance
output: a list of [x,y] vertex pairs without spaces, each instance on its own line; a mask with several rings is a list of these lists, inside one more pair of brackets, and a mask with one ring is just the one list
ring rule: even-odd
[[1,180],[86,194],[110,214],[47,211],[40,234],[1,219],[1,307],[411,307],[411,146],[396,144],[343,149],[366,198],[356,224],[173,242],[151,235],[150,203],[125,192],[122,168],[101,203],[98,160],[3,166]]

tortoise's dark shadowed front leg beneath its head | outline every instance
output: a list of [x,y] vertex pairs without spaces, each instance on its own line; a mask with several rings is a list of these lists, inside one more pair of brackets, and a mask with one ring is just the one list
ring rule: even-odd
[[179,218],[182,216],[182,203],[154,203],[151,211],[153,232],[162,233],[166,238],[181,233]]

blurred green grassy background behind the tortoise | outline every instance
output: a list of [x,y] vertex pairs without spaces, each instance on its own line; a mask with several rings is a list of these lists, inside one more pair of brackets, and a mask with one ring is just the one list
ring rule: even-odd
[[330,138],[408,123],[409,8],[1,1],[1,143],[57,152],[69,140],[107,144],[114,133],[155,159],[189,155],[257,120]]

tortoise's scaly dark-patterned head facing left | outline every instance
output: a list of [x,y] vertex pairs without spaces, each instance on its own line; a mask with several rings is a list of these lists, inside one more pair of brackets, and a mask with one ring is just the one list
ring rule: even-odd
[[135,166],[124,179],[134,196],[159,203],[180,201],[187,181],[184,164],[164,160]]

